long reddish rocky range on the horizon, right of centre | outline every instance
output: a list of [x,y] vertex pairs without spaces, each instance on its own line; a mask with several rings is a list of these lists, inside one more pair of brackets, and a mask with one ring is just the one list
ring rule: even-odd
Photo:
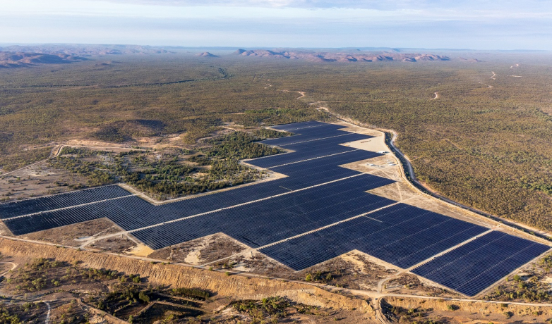
[[315,51],[277,51],[266,49],[245,50],[238,49],[234,55],[258,56],[270,58],[284,58],[294,60],[306,60],[313,62],[376,62],[376,61],[450,61],[448,56],[436,54],[403,54],[397,52],[359,52],[359,53],[332,53]]

